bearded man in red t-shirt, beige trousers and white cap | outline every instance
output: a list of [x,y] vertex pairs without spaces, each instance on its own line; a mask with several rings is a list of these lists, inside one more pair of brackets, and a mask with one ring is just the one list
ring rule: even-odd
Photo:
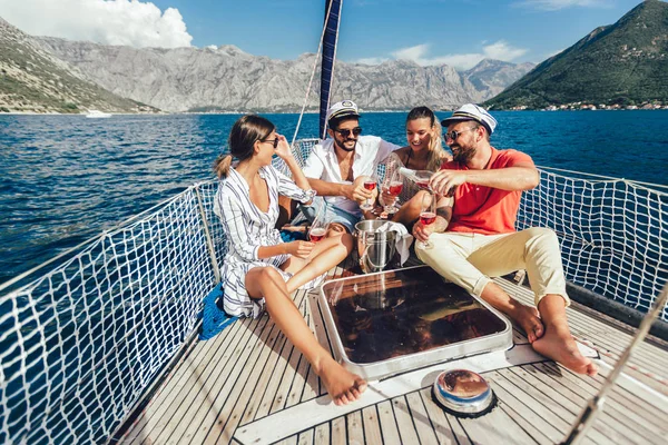
[[[415,253],[448,280],[483,298],[517,322],[533,348],[577,373],[593,376],[597,366],[578,350],[566,319],[570,304],[557,235],[533,227],[515,231],[523,190],[538,186],[529,155],[490,145],[497,120],[466,103],[441,122],[453,160],[430,185],[440,194],[436,221],[416,222],[413,236],[428,238]],[[538,310],[508,295],[489,277],[525,269]]]

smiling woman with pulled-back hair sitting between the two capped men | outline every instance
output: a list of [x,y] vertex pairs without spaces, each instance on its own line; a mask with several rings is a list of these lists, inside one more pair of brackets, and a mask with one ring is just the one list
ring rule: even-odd
[[[393,151],[383,164],[385,175],[405,167],[412,170],[439,171],[441,165],[452,157],[443,149],[441,123],[434,112],[428,107],[415,107],[406,117],[406,139],[409,145]],[[391,220],[401,222],[411,230],[422,210],[422,197],[425,190],[420,190],[415,182],[403,178],[403,189],[399,196],[401,208],[391,216]],[[383,196],[379,197],[383,204]]]

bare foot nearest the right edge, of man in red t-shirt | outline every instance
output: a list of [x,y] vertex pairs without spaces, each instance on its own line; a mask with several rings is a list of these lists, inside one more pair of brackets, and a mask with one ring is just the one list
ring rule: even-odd
[[568,327],[548,326],[546,335],[531,344],[537,353],[553,359],[578,374],[593,377],[598,367],[590,358],[580,354],[576,340],[570,335]]

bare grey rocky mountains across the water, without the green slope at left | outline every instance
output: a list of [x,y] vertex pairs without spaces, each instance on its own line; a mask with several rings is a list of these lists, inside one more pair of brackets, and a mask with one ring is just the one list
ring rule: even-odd
[[[233,46],[218,48],[130,48],[39,38],[42,48],[77,67],[116,95],[169,111],[298,111],[306,95],[314,55],[296,60],[256,57]],[[512,63],[504,66],[508,69]],[[513,66],[514,67],[514,66]],[[470,80],[448,66],[420,67],[387,61],[379,66],[338,61],[332,98],[353,98],[365,110],[405,110],[415,105],[452,109],[480,102],[521,77],[492,75]],[[525,72],[525,71],[524,71]],[[475,83],[481,85],[477,88]],[[308,109],[318,106],[320,78]]]

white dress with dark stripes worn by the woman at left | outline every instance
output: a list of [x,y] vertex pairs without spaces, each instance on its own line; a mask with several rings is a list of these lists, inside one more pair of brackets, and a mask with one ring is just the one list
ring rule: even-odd
[[278,195],[287,196],[303,204],[308,202],[315,191],[302,190],[292,179],[272,166],[259,169],[261,178],[267,182],[269,210],[258,209],[250,201],[246,180],[235,169],[229,169],[227,178],[220,180],[214,211],[223,221],[227,254],[220,267],[225,289],[225,312],[232,316],[258,317],[264,309],[264,299],[253,299],[246,291],[246,274],[254,267],[274,267],[285,280],[291,274],[279,269],[289,255],[278,255],[259,259],[261,246],[275,246],[283,243],[274,228],[278,219]]

